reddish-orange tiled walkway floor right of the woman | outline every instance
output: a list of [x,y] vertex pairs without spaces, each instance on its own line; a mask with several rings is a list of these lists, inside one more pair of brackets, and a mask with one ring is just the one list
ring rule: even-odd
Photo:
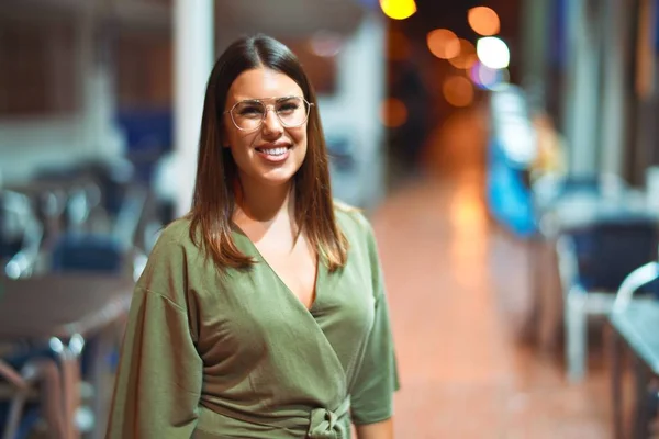
[[588,380],[570,385],[560,356],[518,341],[528,254],[488,218],[484,126],[473,111],[447,121],[425,177],[372,215],[402,380],[396,438],[608,438],[602,348]]

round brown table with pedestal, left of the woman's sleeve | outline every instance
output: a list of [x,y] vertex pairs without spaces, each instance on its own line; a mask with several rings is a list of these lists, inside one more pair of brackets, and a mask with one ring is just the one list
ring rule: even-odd
[[63,364],[67,438],[77,438],[79,353],[85,337],[126,315],[134,282],[107,275],[43,275],[0,279],[0,340],[55,342]]

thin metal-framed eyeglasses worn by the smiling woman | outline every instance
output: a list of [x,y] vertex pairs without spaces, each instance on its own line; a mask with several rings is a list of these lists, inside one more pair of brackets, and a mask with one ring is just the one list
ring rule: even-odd
[[[266,105],[264,101],[275,101],[272,105]],[[228,113],[236,128],[242,131],[255,131],[260,128],[269,108],[272,108],[275,114],[286,127],[295,127],[304,125],[309,119],[309,112],[313,103],[309,103],[301,97],[284,97],[270,99],[249,99],[237,102]]]

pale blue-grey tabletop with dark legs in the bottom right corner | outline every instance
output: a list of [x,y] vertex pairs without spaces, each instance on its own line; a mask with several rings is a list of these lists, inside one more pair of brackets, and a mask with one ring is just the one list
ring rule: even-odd
[[650,398],[657,398],[651,390],[652,378],[659,379],[659,302],[632,302],[624,311],[611,314],[612,330],[611,365],[613,391],[613,417],[615,438],[627,437],[623,432],[622,346],[633,356],[636,380],[636,407],[634,413],[634,438],[648,437],[652,418]]

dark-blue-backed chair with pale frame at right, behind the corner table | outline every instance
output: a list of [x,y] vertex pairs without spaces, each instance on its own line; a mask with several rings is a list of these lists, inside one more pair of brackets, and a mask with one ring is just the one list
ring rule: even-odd
[[[588,317],[607,315],[627,275],[657,257],[659,233],[652,216],[599,218],[563,230],[557,241],[563,291],[568,376],[581,380],[588,353]],[[643,293],[658,294],[659,282]],[[622,296],[621,296],[622,297]]]

